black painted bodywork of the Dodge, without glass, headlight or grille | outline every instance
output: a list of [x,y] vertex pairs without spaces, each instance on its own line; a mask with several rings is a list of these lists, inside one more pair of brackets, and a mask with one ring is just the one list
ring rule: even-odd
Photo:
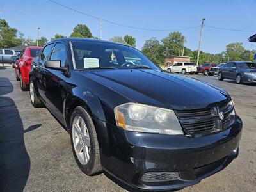
[[[42,49],[33,60],[30,77],[40,100],[67,131],[72,109],[78,105],[86,108],[96,127],[102,167],[116,179],[143,190],[184,188],[219,172],[237,157],[242,129],[238,116],[234,124],[219,132],[193,135],[184,130],[184,135],[176,136],[125,131],[115,121],[114,108],[120,104],[136,102],[178,113],[227,104],[231,100],[227,92],[161,70],[74,69],[70,47],[73,40],[77,39],[47,44],[65,45],[66,72],[45,68],[40,58]],[[143,182],[141,178],[148,172],[177,172],[179,178]]]

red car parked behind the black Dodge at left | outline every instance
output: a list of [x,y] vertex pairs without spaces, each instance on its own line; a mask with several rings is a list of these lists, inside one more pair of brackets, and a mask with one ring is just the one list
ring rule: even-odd
[[21,53],[19,60],[15,65],[15,74],[17,81],[20,81],[20,88],[23,91],[28,90],[29,87],[29,71],[31,68],[31,61],[38,56],[42,47],[26,47]]

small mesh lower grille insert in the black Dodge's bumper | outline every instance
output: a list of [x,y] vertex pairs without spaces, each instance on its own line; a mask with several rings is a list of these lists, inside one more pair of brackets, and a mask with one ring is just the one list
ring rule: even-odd
[[143,182],[163,182],[180,179],[179,172],[147,172],[141,177]]

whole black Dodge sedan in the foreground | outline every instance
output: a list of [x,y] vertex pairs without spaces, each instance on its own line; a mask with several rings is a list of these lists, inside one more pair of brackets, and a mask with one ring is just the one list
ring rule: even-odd
[[33,106],[67,129],[79,168],[132,189],[180,189],[237,157],[242,122],[225,90],[164,72],[140,51],[61,38],[30,72]]

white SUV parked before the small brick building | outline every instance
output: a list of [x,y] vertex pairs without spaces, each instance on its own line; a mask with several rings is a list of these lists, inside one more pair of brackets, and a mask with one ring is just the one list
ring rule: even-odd
[[175,63],[174,65],[168,66],[167,70],[169,72],[181,72],[182,74],[195,74],[197,72],[196,64],[190,62]]

